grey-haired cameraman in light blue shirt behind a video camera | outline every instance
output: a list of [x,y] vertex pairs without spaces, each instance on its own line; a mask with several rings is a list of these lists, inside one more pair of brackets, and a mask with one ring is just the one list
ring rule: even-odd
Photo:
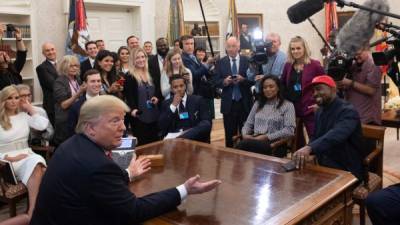
[[277,33],[269,33],[265,40],[266,43],[271,43],[271,47],[267,48],[266,63],[261,65],[262,71],[259,71],[257,64],[251,63],[247,70],[249,80],[256,81],[255,90],[259,93],[260,80],[266,75],[274,75],[280,77],[283,72],[283,67],[286,62],[286,54],[280,50],[281,37]]

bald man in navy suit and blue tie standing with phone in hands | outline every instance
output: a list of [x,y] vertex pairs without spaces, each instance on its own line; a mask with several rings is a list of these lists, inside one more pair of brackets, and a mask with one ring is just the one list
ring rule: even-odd
[[217,62],[217,85],[222,88],[221,113],[224,118],[225,145],[233,147],[232,137],[238,134],[252,106],[250,87],[254,82],[247,79],[247,57],[240,56],[239,41],[230,37],[225,44],[227,56]]

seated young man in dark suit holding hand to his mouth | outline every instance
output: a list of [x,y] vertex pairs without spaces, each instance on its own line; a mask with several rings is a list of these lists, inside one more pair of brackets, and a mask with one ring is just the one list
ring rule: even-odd
[[207,103],[201,96],[186,94],[182,76],[173,75],[170,84],[174,95],[161,108],[158,121],[161,135],[210,142],[211,118]]

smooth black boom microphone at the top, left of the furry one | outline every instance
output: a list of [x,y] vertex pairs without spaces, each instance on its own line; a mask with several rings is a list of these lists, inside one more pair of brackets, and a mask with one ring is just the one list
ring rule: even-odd
[[324,0],[302,0],[287,10],[291,23],[301,23],[324,8]]

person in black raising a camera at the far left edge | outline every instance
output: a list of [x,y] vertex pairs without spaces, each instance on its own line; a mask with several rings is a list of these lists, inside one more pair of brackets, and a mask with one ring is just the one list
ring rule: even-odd
[[[0,25],[3,28],[0,30],[1,35],[4,32],[4,25]],[[15,41],[17,46],[17,56],[14,63],[11,62],[11,58],[5,51],[0,51],[0,90],[11,84],[21,84],[22,76],[21,71],[24,68],[26,62],[26,48],[22,41],[21,31],[13,26],[7,24],[6,30],[13,32],[15,35]]]

